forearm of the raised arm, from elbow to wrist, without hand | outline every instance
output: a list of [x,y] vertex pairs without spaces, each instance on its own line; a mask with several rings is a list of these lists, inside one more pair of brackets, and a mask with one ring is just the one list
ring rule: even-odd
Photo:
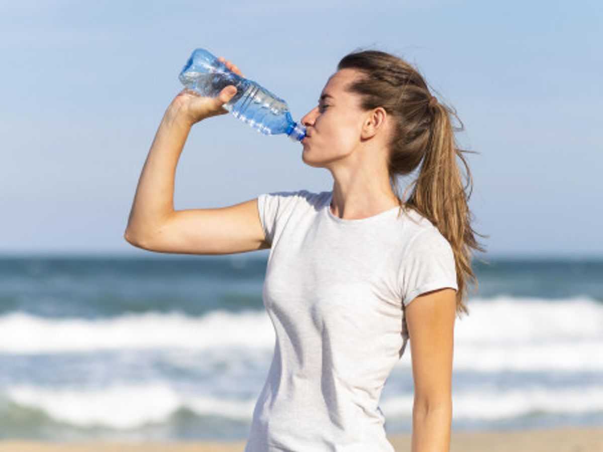
[[126,235],[144,238],[157,231],[174,212],[174,180],[178,159],[191,125],[170,105],[148,153],[134,195]]

